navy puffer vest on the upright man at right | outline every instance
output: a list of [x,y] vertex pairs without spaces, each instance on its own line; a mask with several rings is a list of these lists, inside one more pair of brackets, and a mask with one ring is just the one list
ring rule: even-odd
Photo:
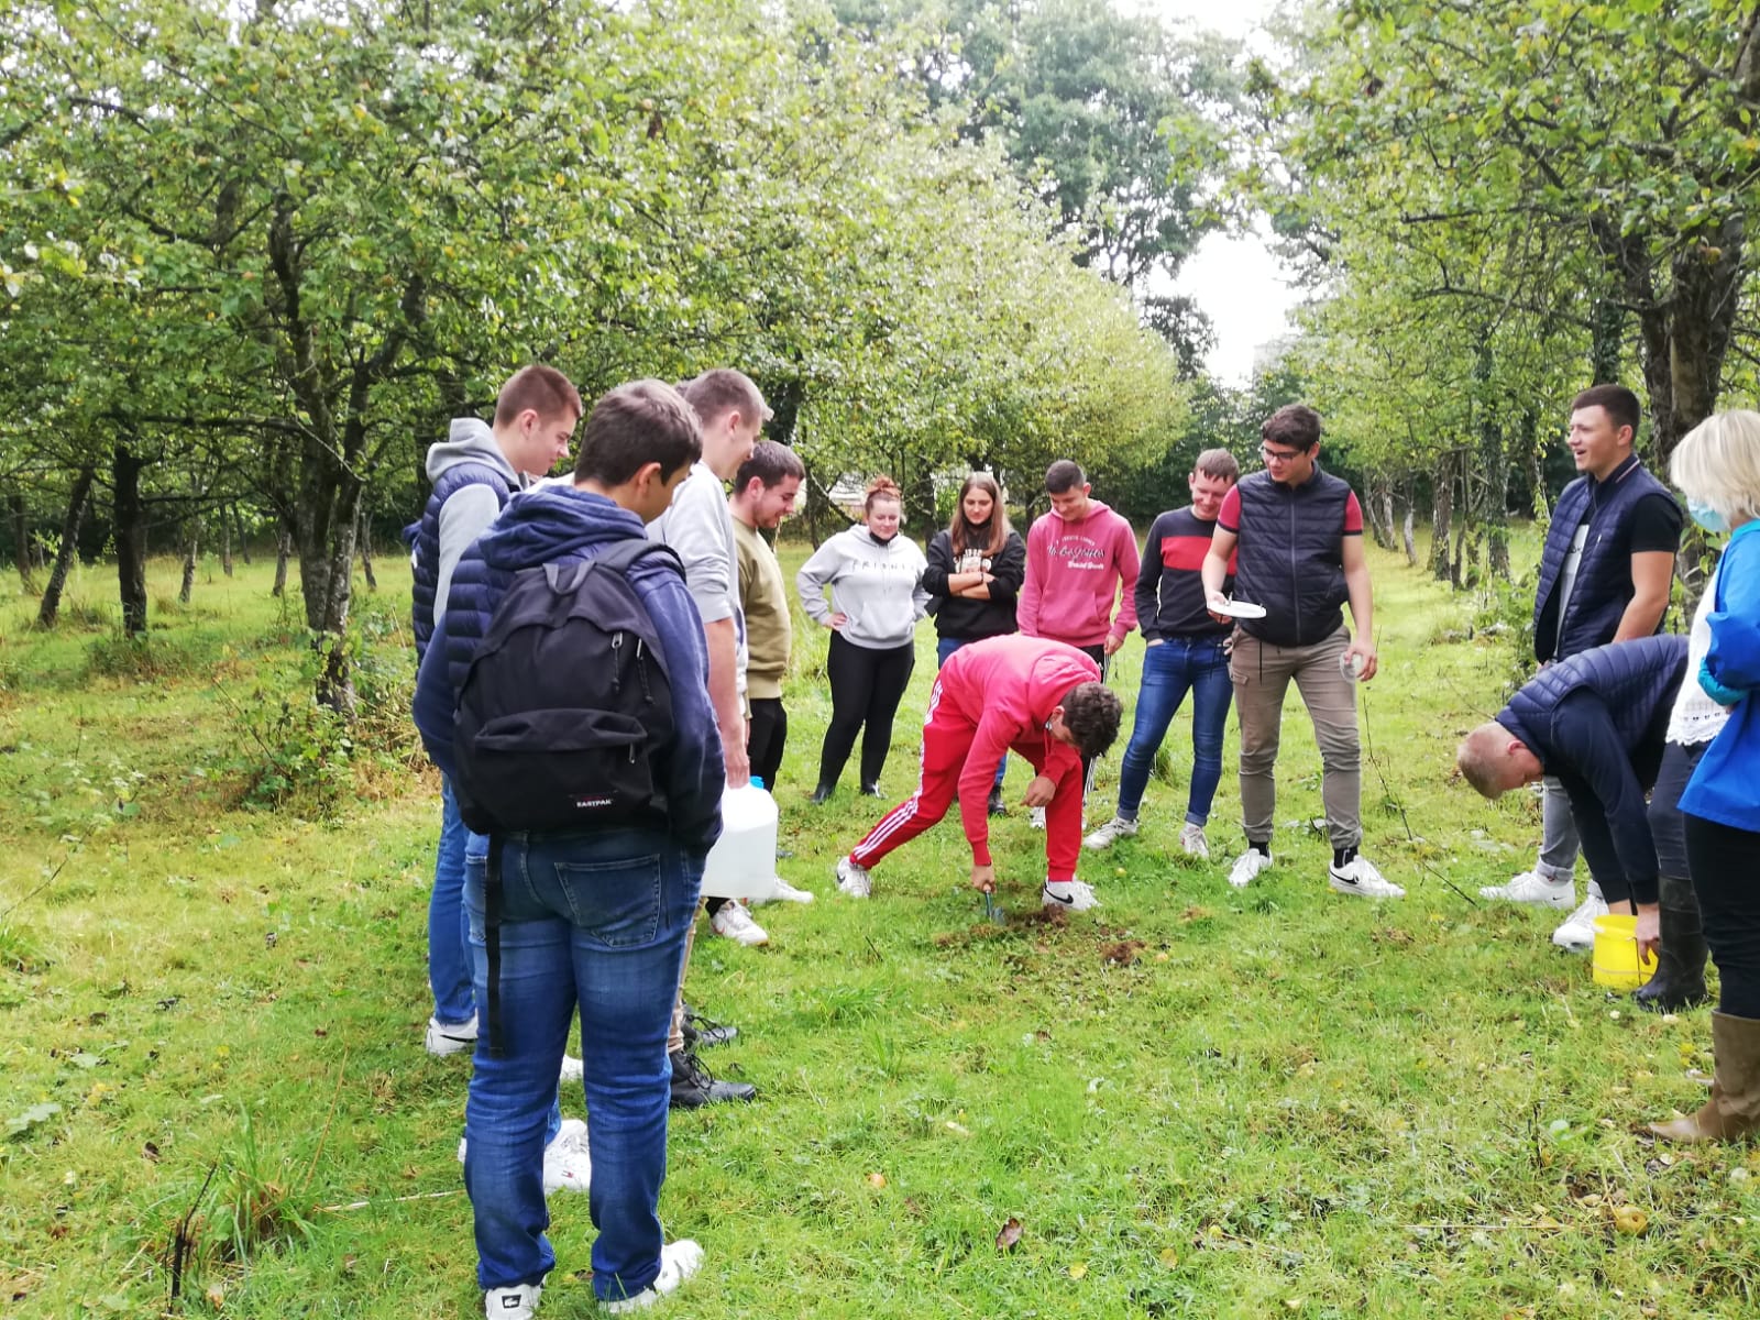
[[[1540,586],[1535,590],[1536,660],[1563,660],[1591,646],[1607,646],[1619,632],[1619,620],[1637,591],[1632,584],[1630,514],[1639,500],[1649,496],[1674,502],[1668,489],[1639,463],[1637,454],[1605,480],[1577,477],[1558,496],[1545,547],[1540,551]],[[1589,535],[1582,544],[1577,583],[1565,616],[1558,618],[1554,595],[1584,512],[1589,514]]]

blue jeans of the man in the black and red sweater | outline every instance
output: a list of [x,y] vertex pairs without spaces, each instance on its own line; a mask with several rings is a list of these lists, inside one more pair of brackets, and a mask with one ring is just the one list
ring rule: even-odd
[[1169,637],[1144,648],[1142,688],[1137,692],[1137,722],[1130,729],[1125,766],[1118,776],[1118,813],[1137,818],[1142,790],[1149,785],[1155,753],[1167,737],[1179,702],[1192,692],[1192,792],[1186,824],[1209,820],[1216,785],[1221,783],[1221,734],[1228,723],[1234,685],[1221,637]]

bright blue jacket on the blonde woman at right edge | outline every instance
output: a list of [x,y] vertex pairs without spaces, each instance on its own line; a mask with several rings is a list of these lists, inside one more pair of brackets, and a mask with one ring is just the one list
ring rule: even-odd
[[1709,623],[1705,671],[1746,695],[1693,771],[1681,810],[1760,832],[1760,521],[1742,523],[1730,537]]

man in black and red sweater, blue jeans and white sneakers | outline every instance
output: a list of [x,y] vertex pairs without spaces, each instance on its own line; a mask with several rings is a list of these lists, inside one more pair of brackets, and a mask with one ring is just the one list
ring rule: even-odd
[[1084,840],[1096,852],[1137,832],[1137,810],[1155,755],[1186,692],[1192,692],[1192,790],[1179,847],[1190,857],[1209,857],[1204,825],[1221,781],[1221,736],[1234,686],[1228,683],[1225,648],[1228,625],[1218,623],[1204,604],[1202,568],[1216,532],[1216,514],[1239,479],[1241,465],[1234,454],[1206,449],[1186,477],[1192,505],[1169,509],[1149,526],[1135,593],[1144,644],[1142,688],[1118,776],[1118,811]]

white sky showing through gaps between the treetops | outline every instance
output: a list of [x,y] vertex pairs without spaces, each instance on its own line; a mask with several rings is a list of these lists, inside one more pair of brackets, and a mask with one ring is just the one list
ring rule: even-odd
[[[1119,7],[1248,39],[1264,26],[1276,0],[1119,0]],[[1294,331],[1288,312],[1301,301],[1281,262],[1257,236],[1211,234],[1192,253],[1174,289],[1190,294],[1209,315],[1216,347],[1206,364],[1230,385],[1251,378],[1255,348]]]

